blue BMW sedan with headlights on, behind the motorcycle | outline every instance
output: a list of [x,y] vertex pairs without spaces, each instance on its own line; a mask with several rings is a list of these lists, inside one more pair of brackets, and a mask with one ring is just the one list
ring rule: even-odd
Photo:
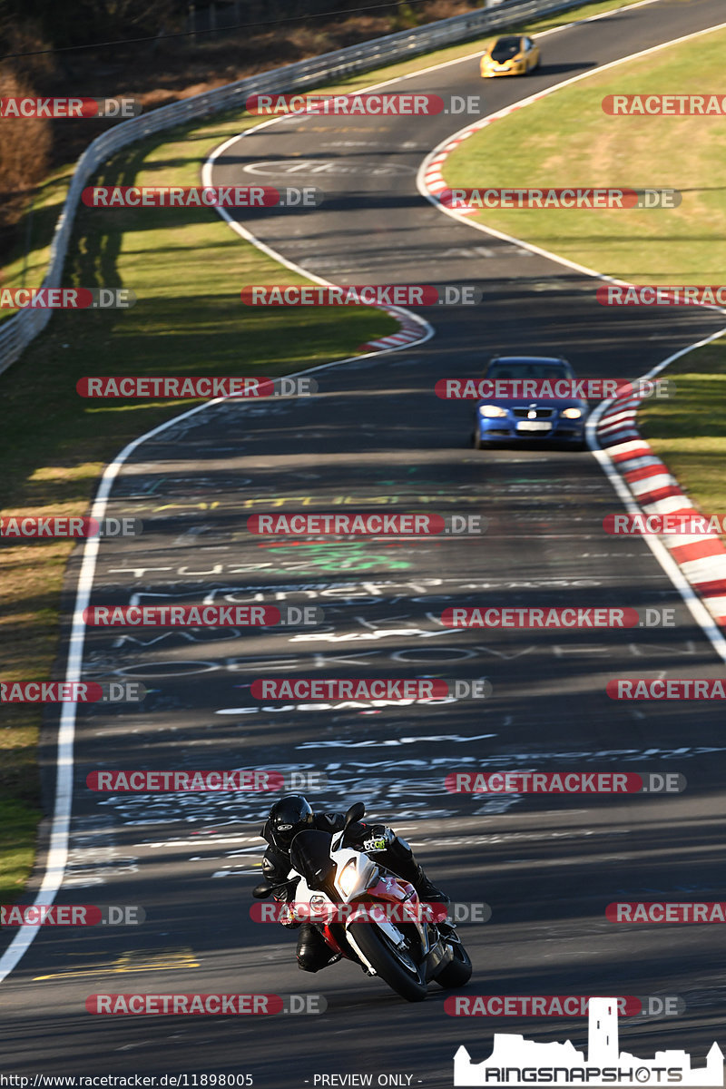
[[[586,449],[588,403],[579,396],[567,396],[575,372],[566,359],[494,356],[487,364],[484,379],[490,380],[485,389],[495,395],[477,403],[473,427],[477,450],[532,440]],[[556,395],[559,393],[565,395]]]

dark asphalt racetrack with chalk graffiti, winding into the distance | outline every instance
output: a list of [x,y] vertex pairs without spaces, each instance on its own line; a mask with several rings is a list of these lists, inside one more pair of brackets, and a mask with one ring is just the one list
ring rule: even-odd
[[[520,82],[485,85],[499,109],[524,93],[667,41],[722,17],[718,0],[664,0],[574,25],[545,39],[544,63]],[[476,59],[404,81],[405,89],[479,94]],[[393,89],[396,89],[394,86]],[[556,99],[551,99],[555,108]],[[582,1019],[448,1017],[443,993],[417,1007],[350,965],[318,977],[294,965],[293,941],[248,916],[269,804],[250,795],[95,795],[86,774],[116,768],[262,767],[324,771],[321,808],[361,797],[369,815],[414,843],[455,900],[493,917],[463,928],[483,994],[679,994],[670,1021],[626,1023],[629,1051],[685,1048],[699,1063],[723,1043],[717,930],[614,927],[613,900],[726,898],[719,861],[723,720],[707,705],[618,705],[618,675],[722,675],[645,543],[605,538],[617,510],[589,453],[468,449],[470,407],[438,401],[434,381],[476,375],[496,351],[563,353],[582,377],[637,375],[718,328],[714,314],[608,311],[594,283],[442,216],[416,192],[418,166],[460,121],[286,119],[227,146],[216,184],[282,179],[316,184],[315,213],[244,221],[268,246],[341,283],[467,282],[477,311],[421,311],[426,344],[321,369],[320,396],[210,405],[155,433],[127,458],[111,515],[144,519],[138,540],[104,542],[93,603],[213,600],[315,603],[315,632],[89,631],[84,676],[143,680],[141,712],[81,709],[71,856],[59,903],[139,904],[143,927],[45,930],[0,987],[3,1072],[249,1073],[255,1085],[312,1085],[316,1074],[403,1074],[448,1086],[465,1043],[491,1035],[587,1038]],[[554,244],[553,244],[554,246]],[[249,513],[385,503],[483,514],[485,537],[276,547],[251,538]],[[67,578],[69,614],[79,555]],[[445,629],[443,608],[648,605],[675,610],[672,629],[534,633]],[[487,676],[484,705],[260,706],[256,676]],[[44,774],[52,790],[48,731]],[[678,771],[682,795],[629,800],[484,802],[448,794],[467,766]],[[7,939],[5,939],[7,942]],[[223,1017],[91,1017],[96,992],[320,992],[323,1016],[250,1023]]]

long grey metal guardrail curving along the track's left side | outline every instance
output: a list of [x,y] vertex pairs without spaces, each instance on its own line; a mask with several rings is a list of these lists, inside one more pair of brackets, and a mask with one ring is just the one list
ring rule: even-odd
[[[144,139],[164,129],[173,129],[199,118],[211,117],[224,110],[244,108],[251,94],[292,91],[304,87],[330,83],[336,78],[381,68],[386,63],[418,57],[442,46],[466,41],[488,30],[499,30],[531,15],[547,15],[580,7],[585,0],[504,0],[495,8],[454,15],[414,30],[399,30],[372,41],[348,46],[334,52],[311,57],[308,60],[272,69],[261,75],[248,76],[214,90],[195,95],[182,102],[162,106],[128,121],[122,121],[101,136],[91,140],[79,157],[69,187],[63,210],[56,224],[50,247],[50,261],[42,287],[59,287],[67,253],[75,211],[81,193],[97,168],[114,151]],[[0,325],[0,374],[8,369],[27,345],[48,325],[52,310],[20,310],[9,321]]]

